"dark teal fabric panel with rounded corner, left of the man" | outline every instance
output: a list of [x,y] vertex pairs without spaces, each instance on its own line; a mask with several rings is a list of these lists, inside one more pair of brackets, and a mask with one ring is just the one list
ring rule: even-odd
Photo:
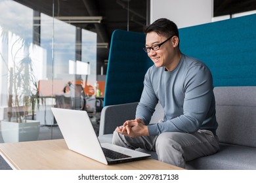
[[116,30],[112,34],[104,106],[140,100],[144,75],[153,64],[142,50],[144,44],[144,33]]

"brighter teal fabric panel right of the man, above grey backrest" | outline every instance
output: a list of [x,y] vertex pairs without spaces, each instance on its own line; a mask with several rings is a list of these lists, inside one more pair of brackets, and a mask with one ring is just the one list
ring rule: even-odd
[[181,51],[209,67],[214,86],[256,86],[256,14],[179,31]]

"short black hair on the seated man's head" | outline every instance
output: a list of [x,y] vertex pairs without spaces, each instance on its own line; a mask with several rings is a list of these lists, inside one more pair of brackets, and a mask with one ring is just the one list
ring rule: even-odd
[[144,33],[156,32],[158,35],[162,35],[166,38],[176,35],[179,37],[179,30],[177,25],[168,20],[167,18],[160,18],[153,22],[152,24],[148,25],[144,30]]

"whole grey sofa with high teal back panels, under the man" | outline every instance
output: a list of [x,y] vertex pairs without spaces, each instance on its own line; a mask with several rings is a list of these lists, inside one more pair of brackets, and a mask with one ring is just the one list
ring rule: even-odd
[[[186,169],[256,169],[256,14],[179,29],[182,53],[198,58],[213,75],[220,150],[186,163]],[[98,139],[112,142],[116,126],[135,118],[144,74],[144,33],[112,35]],[[163,109],[156,106],[150,123]],[[141,150],[141,149],[139,149]],[[157,159],[156,152],[148,152]]]

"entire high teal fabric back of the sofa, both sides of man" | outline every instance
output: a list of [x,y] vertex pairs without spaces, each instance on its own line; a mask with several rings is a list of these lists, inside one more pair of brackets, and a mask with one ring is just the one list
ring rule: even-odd
[[[203,61],[214,86],[256,86],[256,14],[179,29],[181,52]],[[144,33],[112,35],[104,106],[140,99],[144,74],[153,63]]]

